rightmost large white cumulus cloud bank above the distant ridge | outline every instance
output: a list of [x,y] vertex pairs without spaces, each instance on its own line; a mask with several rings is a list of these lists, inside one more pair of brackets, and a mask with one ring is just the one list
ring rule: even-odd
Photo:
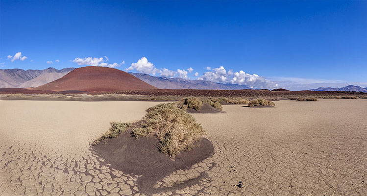
[[256,89],[273,89],[278,86],[276,83],[257,74],[245,73],[242,70],[239,72],[233,72],[233,70],[226,71],[223,66],[213,68],[211,71],[203,73],[203,75],[197,79],[218,83],[246,85]]

